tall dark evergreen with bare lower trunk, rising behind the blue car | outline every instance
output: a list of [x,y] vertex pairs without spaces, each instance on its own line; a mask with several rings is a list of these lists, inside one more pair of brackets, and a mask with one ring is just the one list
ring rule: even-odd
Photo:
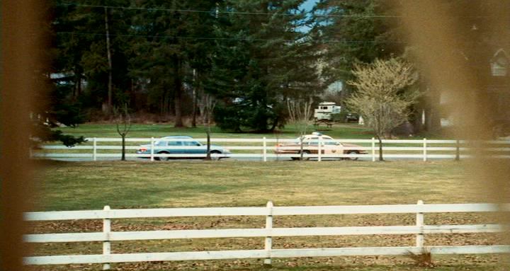
[[183,126],[183,100],[191,69],[208,67],[208,41],[215,1],[137,1],[144,8],[134,18],[131,33],[136,56],[130,73],[145,79],[149,103],[166,114],[173,109],[176,127]]

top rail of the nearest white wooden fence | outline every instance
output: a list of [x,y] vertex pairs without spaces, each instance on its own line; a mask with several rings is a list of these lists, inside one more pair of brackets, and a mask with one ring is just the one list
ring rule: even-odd
[[152,217],[232,217],[280,216],[317,214],[409,214],[448,212],[504,212],[510,204],[399,204],[399,205],[350,205],[350,206],[300,206],[300,207],[208,207],[162,209],[111,209],[91,211],[28,212],[26,221],[52,221],[71,219],[128,219]]

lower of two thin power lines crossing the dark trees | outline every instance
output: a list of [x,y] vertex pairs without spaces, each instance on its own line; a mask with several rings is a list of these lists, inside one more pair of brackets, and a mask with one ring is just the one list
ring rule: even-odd
[[[91,36],[105,36],[106,33],[84,33],[84,32],[66,32],[59,31],[57,34],[61,35],[91,35]],[[220,37],[186,37],[186,36],[171,36],[171,35],[133,35],[133,34],[110,34],[110,36],[117,37],[130,37],[130,38],[174,38],[178,40],[236,40],[236,41],[257,41],[257,42],[297,42],[299,40],[285,40],[285,39],[261,39],[261,38],[220,38]],[[381,42],[377,40],[314,40],[322,43],[387,43],[387,44],[403,44],[407,42],[399,41],[386,41]]]

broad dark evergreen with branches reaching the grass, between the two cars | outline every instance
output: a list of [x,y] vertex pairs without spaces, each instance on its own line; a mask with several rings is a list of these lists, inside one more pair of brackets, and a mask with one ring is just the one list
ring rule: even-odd
[[[222,129],[266,132],[285,122],[285,95],[308,90],[317,78],[310,40],[300,32],[305,16],[294,1],[225,1],[220,9],[217,50],[208,92],[219,102]],[[303,72],[305,71],[305,72]],[[306,75],[306,76],[305,76]],[[292,90],[292,91],[290,91]]]

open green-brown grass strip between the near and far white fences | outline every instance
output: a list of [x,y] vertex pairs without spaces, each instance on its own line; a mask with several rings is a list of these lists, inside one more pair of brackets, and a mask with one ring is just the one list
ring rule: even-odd
[[480,190],[451,162],[240,161],[49,164],[42,209],[477,202]]

